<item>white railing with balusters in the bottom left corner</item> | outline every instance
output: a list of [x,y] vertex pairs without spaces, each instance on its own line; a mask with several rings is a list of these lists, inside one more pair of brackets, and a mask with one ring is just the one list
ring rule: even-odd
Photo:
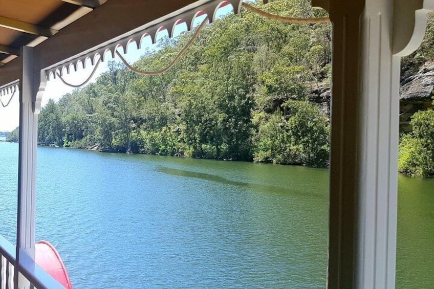
[[0,236],[0,289],[64,289],[33,261],[19,264],[14,278],[15,261],[15,246]]

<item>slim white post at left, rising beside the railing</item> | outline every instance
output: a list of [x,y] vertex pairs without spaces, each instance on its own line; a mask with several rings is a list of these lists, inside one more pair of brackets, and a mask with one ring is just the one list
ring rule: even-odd
[[45,74],[34,71],[33,48],[21,48],[20,60],[17,265],[14,282],[19,282],[18,288],[30,288],[25,278],[18,280],[17,270],[21,266],[33,264],[35,259],[37,123],[46,79],[41,79]]

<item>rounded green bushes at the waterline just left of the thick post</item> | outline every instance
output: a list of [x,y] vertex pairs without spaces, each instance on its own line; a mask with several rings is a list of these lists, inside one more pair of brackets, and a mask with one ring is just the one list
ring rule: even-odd
[[319,107],[308,101],[283,104],[287,115],[276,112],[259,125],[256,162],[326,166],[329,127]]

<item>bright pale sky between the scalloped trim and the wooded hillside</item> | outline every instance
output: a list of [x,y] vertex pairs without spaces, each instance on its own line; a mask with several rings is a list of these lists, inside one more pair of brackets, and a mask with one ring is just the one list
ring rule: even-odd
[[[219,9],[218,11],[219,13],[217,15],[218,18],[227,15],[228,12],[230,12],[230,9],[228,8],[229,6]],[[193,27],[200,25],[204,17],[205,15],[199,16],[196,19],[194,19]],[[185,32],[186,29],[187,26],[185,25],[185,23],[177,25],[174,31],[175,37]],[[157,42],[158,40],[164,37],[167,37],[166,30],[161,31],[157,34]],[[128,46],[128,53],[122,54],[122,56],[125,58],[125,60],[128,63],[132,64],[135,61],[139,60],[140,56],[143,55],[147,49],[151,49],[154,51],[158,50],[157,45],[151,44],[149,37],[144,38],[144,40],[145,42],[142,44],[142,48],[140,50],[137,49],[135,43],[130,43]],[[122,53],[122,49],[120,49],[119,51]],[[107,55],[105,60],[99,64],[98,69],[96,70],[94,76],[86,84],[95,82],[98,76],[100,76],[102,73],[107,71],[107,63],[108,61],[112,61],[112,60],[116,62],[120,62],[120,59],[117,55],[115,55],[115,58],[112,58],[111,55]],[[72,84],[79,84],[89,77],[93,69],[94,66],[92,65],[86,65],[85,69],[82,68],[82,65],[78,65],[78,69],[76,72],[72,71],[70,74],[65,74],[63,76],[63,79]],[[50,79],[47,82],[44,96],[42,96],[41,106],[44,107],[48,103],[49,99],[58,101],[63,95],[67,93],[71,93],[74,89],[75,89],[74,87],[70,87],[66,84],[63,84],[58,78]],[[12,94],[2,96],[1,99],[3,103],[6,104],[9,101],[10,97],[12,97]],[[19,93],[17,91],[13,96],[13,99],[11,100],[10,104],[7,107],[0,106],[0,131],[12,131],[18,126],[18,124],[19,124]]]

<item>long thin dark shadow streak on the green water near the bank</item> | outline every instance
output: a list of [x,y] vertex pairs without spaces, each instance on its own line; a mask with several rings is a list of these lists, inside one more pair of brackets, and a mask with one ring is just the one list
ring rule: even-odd
[[252,183],[246,183],[246,182],[239,182],[239,181],[232,181],[229,179],[226,179],[225,177],[221,177],[214,174],[209,173],[203,173],[203,172],[196,172],[196,171],[188,171],[188,170],[180,170],[180,169],[172,169],[172,168],[165,168],[160,167],[157,169],[159,172],[169,174],[169,175],[175,175],[175,176],[185,176],[185,177],[193,177],[194,179],[201,179],[211,182],[216,182],[224,185],[231,185],[236,187],[244,187],[253,189],[256,191],[264,192],[264,193],[278,193],[278,194],[297,194],[297,195],[303,195],[303,196],[314,196],[314,197],[321,197],[321,194],[318,193],[307,193],[306,191],[297,190],[293,188],[281,188],[276,186],[267,186],[267,185],[259,185],[259,184],[252,184]]

